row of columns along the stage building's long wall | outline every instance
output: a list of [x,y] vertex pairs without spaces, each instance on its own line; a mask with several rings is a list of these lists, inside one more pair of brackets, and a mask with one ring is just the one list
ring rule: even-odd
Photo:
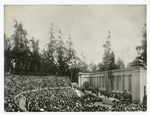
[[[105,89],[105,76],[80,76],[79,77],[79,87],[85,87],[86,83],[89,87],[99,87],[100,89]],[[113,75],[112,79],[108,79],[108,84],[112,84],[112,91],[115,92],[123,92],[127,90],[129,92],[132,91],[132,75],[131,74],[123,74],[123,75]]]

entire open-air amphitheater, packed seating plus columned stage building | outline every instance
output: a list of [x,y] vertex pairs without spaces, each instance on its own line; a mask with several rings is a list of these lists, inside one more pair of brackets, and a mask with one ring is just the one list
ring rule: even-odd
[[[108,71],[79,73],[78,87],[71,86],[69,77],[5,75],[4,111],[146,111],[146,69],[139,63],[133,67],[112,70],[111,77]],[[132,100],[124,99],[124,90]]]

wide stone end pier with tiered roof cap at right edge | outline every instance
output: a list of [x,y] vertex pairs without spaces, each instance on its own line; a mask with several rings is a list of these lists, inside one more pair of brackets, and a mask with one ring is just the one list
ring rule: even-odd
[[142,102],[144,87],[147,86],[147,66],[139,57],[136,57],[130,66],[132,67],[132,101]]

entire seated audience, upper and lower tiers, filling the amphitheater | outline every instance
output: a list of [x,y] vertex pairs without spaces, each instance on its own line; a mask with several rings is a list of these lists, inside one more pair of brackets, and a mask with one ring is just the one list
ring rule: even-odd
[[[4,109],[6,112],[20,112],[19,102],[24,99],[25,109],[29,112],[42,111],[146,111],[147,103],[132,103],[132,97],[109,91],[100,91],[106,98],[114,97],[112,107],[96,105],[102,99],[85,95],[79,97],[71,88],[67,77],[56,76],[5,76],[4,77]],[[128,101],[127,101],[128,100]],[[130,100],[130,101],[129,101]]]

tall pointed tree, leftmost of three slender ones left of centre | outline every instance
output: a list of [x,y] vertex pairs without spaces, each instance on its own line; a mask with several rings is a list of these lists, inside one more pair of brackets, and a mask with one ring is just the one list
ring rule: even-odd
[[49,43],[46,44],[46,48],[44,48],[42,51],[43,64],[41,66],[41,69],[43,72],[52,75],[58,75],[56,61],[57,39],[55,37],[55,33],[56,31],[54,30],[54,25],[53,23],[51,23],[51,27],[49,30]]

